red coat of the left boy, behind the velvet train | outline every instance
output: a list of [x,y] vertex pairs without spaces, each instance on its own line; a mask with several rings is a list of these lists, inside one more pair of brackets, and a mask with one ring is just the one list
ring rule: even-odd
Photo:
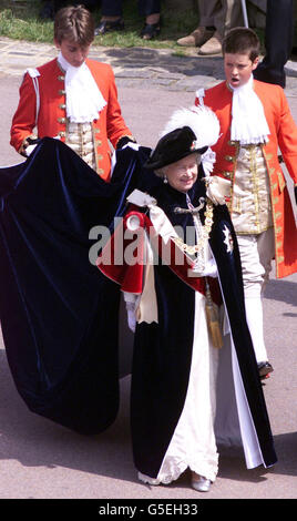
[[[98,120],[94,120],[93,140],[96,156],[96,171],[104,178],[109,180],[111,170],[111,151],[109,141],[115,147],[120,137],[131,135],[126,126],[121,108],[117,101],[117,91],[112,68],[105,63],[94,60],[86,60],[92,75],[106,101],[106,105],[100,112]],[[40,92],[40,109],[37,119],[37,95],[32,78],[25,73],[20,86],[20,101],[11,126],[11,145],[19,152],[23,140],[32,134],[35,126],[38,136],[55,137],[60,136],[65,141],[66,135],[66,113],[65,113],[65,90],[64,73],[54,59],[38,68]]]

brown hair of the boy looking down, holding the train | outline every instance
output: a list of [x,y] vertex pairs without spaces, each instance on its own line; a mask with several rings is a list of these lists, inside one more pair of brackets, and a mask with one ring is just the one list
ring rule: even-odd
[[80,45],[90,45],[94,40],[94,20],[84,6],[69,6],[57,12],[53,31],[58,43],[70,40]]

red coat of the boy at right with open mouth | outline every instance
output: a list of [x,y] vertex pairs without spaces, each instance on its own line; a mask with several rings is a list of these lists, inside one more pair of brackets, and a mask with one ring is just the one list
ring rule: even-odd
[[[280,86],[254,80],[254,90],[263,103],[270,131],[268,143],[262,147],[270,184],[276,276],[281,278],[297,272],[297,229],[286,180],[279,164],[278,147],[296,184],[297,126]],[[234,183],[239,143],[231,141],[232,95],[224,81],[205,91],[204,104],[216,113],[222,132],[217,143],[212,146],[216,153],[213,175],[221,175]],[[197,98],[195,103],[199,104]]]

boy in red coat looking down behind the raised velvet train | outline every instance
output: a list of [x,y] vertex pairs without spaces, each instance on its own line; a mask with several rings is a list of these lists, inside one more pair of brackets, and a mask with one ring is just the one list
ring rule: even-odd
[[58,11],[54,43],[59,55],[24,74],[11,145],[29,155],[37,136],[61,139],[109,180],[109,141],[119,147],[134,140],[121,113],[111,67],[88,59],[93,39],[94,22],[88,9],[71,6]]

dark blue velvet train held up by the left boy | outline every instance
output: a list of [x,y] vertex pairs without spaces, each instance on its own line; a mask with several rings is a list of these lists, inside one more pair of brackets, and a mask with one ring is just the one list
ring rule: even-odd
[[[144,160],[147,156],[143,149]],[[95,225],[113,225],[136,186],[140,154],[106,184],[44,139],[0,173],[0,319],[9,366],[31,411],[82,433],[119,407],[120,289],[89,262]]]

